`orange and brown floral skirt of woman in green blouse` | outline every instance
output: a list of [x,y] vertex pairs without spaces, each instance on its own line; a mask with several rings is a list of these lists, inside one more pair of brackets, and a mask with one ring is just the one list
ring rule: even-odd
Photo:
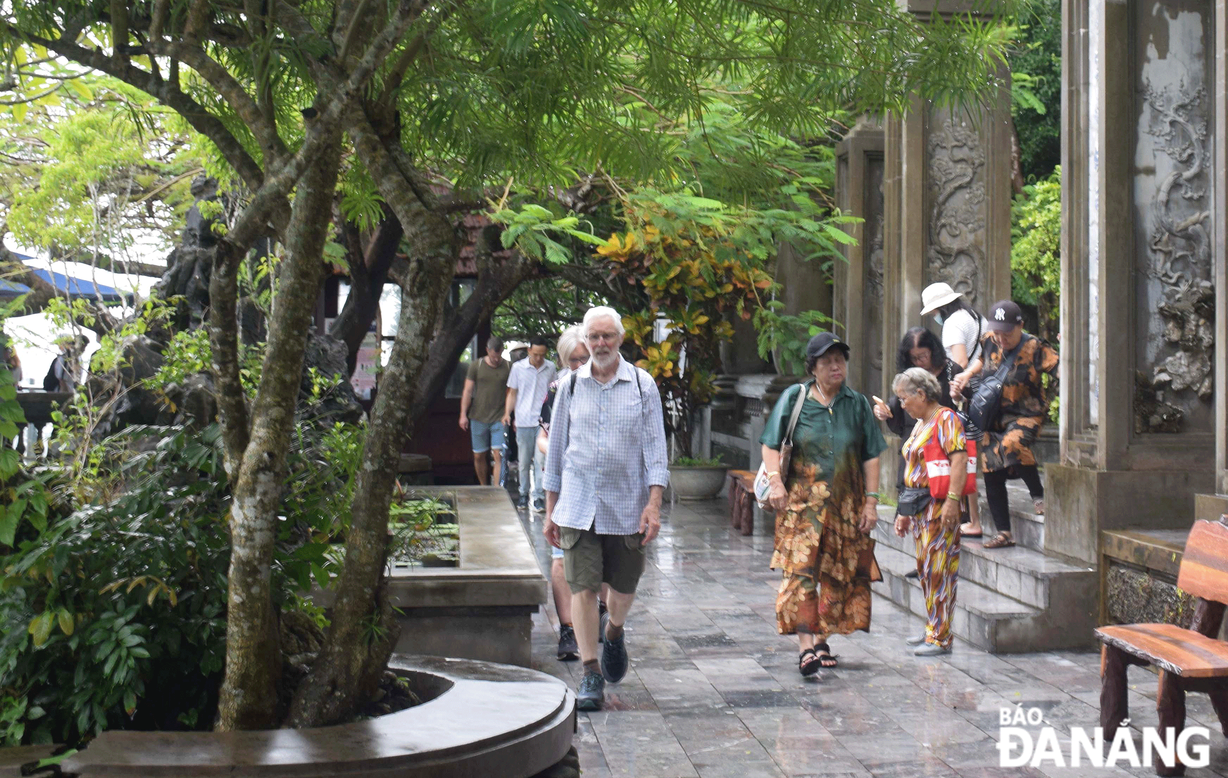
[[846,499],[837,507],[826,483],[791,481],[788,508],[776,518],[771,561],[772,568],[783,571],[776,630],[822,636],[868,632],[869,571],[858,564],[873,541],[857,528],[861,504]]

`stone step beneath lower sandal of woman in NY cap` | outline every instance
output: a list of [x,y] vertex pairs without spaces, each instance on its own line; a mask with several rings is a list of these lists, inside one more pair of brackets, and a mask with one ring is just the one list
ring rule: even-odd
[[[894,510],[879,508],[878,515],[873,535],[879,547],[887,546],[905,556],[914,556],[916,547],[912,535],[895,536]],[[1032,549],[985,549],[981,542],[971,539],[963,541],[960,580],[970,580],[1034,607],[1049,607],[1055,579],[1066,576],[1088,578],[1094,574],[1090,567],[1070,564]]]

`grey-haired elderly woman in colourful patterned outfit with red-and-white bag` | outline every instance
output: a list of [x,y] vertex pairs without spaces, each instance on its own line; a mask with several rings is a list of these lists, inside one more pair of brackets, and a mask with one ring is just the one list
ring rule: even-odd
[[[928,499],[925,509],[912,515],[895,517],[895,534],[904,537],[911,528],[916,541],[917,577],[925,596],[925,634],[907,639],[917,657],[937,657],[950,652],[950,618],[955,609],[955,584],[959,577],[959,499],[968,474],[968,441],[959,416],[939,405],[942,389],[930,371],[914,367],[892,382],[904,411],[919,420],[904,442],[905,470],[900,495],[900,513],[905,513],[909,491],[930,493],[930,475],[925,448],[937,436],[938,447],[950,463],[950,486],[946,499]],[[963,476],[963,477],[959,477]]]

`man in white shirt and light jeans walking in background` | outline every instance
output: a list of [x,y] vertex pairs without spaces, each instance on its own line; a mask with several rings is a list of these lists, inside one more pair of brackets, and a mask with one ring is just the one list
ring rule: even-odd
[[542,416],[542,402],[550,390],[558,368],[545,358],[546,341],[534,336],[529,341],[529,356],[512,364],[507,376],[507,400],[503,406],[503,426],[512,423],[512,411],[516,411],[516,445],[519,449],[521,499],[517,508],[528,508],[529,472],[533,479],[533,509],[545,510],[545,488],[543,487],[543,469],[545,454],[537,447],[538,420]]

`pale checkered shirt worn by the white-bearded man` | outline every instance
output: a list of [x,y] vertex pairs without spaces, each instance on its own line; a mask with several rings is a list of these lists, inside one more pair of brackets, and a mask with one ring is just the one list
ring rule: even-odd
[[575,395],[570,377],[559,382],[545,458],[545,488],[559,493],[555,524],[631,535],[648,487],[668,485],[661,391],[648,373],[619,357],[608,384],[593,379],[592,362],[576,371]]

